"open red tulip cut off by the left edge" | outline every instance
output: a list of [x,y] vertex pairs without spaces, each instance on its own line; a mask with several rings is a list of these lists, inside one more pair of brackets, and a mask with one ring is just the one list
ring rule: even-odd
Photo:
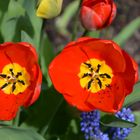
[[0,45],[0,120],[11,120],[19,106],[40,94],[42,73],[35,49],[28,43]]

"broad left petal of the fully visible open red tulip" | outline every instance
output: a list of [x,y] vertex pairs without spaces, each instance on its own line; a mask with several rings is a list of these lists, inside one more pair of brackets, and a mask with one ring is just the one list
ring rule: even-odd
[[74,46],[65,48],[56,56],[49,66],[49,75],[58,91],[70,93],[71,96],[81,92],[78,73],[79,65],[85,60],[87,60],[85,54]]

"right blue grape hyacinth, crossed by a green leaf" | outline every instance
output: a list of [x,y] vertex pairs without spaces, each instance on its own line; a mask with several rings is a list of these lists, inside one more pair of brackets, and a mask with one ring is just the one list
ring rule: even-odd
[[[115,116],[130,122],[134,122],[135,120],[134,114],[132,114],[132,111],[129,108],[123,108],[121,111],[117,112]],[[132,128],[111,128],[111,140],[124,140],[131,131]]]

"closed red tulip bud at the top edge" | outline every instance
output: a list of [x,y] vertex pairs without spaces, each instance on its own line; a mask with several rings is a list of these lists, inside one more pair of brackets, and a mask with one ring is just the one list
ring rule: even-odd
[[113,0],[83,0],[80,17],[88,30],[109,26],[116,16]]

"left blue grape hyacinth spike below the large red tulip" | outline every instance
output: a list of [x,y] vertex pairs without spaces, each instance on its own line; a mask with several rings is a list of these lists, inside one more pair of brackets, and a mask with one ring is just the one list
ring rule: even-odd
[[83,112],[81,119],[81,131],[85,134],[85,140],[109,140],[108,135],[100,130],[99,111]]

